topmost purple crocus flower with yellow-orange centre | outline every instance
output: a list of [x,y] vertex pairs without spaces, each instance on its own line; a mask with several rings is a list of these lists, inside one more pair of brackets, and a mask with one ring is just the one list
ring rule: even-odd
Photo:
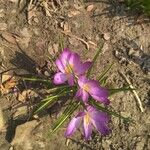
[[90,68],[91,62],[82,63],[77,53],[65,48],[60,57],[56,60],[60,72],[54,76],[55,84],[62,84],[68,81],[69,85],[74,84],[74,77],[85,74]]

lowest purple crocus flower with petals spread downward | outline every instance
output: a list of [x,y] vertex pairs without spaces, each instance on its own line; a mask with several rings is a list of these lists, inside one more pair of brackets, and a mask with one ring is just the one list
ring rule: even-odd
[[107,135],[110,132],[108,128],[108,122],[110,117],[104,113],[96,110],[92,106],[88,106],[87,110],[80,112],[74,117],[65,132],[66,137],[70,137],[79,128],[81,122],[83,122],[83,131],[86,140],[91,137],[92,129],[95,127],[102,135]]

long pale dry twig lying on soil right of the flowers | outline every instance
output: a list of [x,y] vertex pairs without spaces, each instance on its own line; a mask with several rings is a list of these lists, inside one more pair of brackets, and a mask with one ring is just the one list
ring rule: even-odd
[[[122,75],[122,77],[123,77],[123,78],[126,80],[126,82],[129,84],[129,87],[130,87],[131,89],[134,89],[133,85],[131,84],[131,82],[130,82],[130,80],[127,78],[127,76],[126,76],[124,73],[122,73],[122,72],[119,72],[119,73]],[[132,92],[133,92],[133,94],[134,94],[134,96],[135,96],[135,98],[136,98],[136,100],[137,100],[137,103],[139,104],[139,108],[140,108],[141,112],[144,112],[144,109],[143,109],[143,106],[142,106],[142,102],[141,102],[141,100],[140,100],[140,98],[139,98],[137,92],[136,92],[135,90],[132,90]]]

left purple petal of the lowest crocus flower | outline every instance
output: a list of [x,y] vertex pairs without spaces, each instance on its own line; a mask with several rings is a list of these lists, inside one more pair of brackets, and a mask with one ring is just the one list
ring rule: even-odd
[[65,132],[66,137],[71,136],[77,130],[77,128],[80,125],[81,119],[82,117],[75,117],[70,121],[67,130]]

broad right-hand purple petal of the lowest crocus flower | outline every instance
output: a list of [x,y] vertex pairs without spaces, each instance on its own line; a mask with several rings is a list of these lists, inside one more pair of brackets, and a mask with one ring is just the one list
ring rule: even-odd
[[108,122],[110,117],[107,114],[99,111],[94,111],[90,115],[92,118],[91,121],[98,132],[103,135],[109,134],[110,129],[108,128]]

